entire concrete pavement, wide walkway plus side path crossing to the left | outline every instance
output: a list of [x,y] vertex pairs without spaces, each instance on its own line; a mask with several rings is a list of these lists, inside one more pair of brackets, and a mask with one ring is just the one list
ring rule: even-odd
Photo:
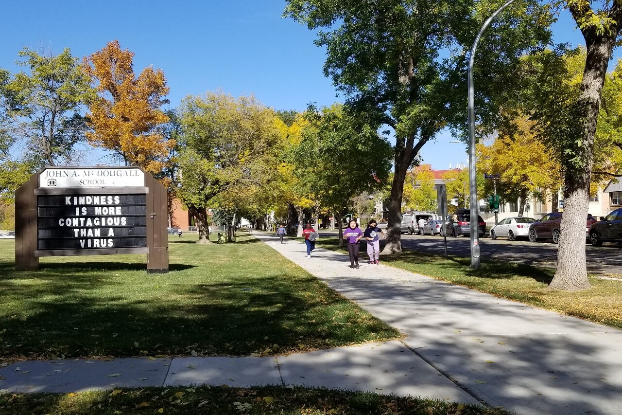
[[[254,232],[287,259],[406,333],[403,341],[279,357],[24,361],[3,392],[118,386],[326,386],[429,396],[517,414],[622,414],[622,332],[385,265]],[[362,258],[361,258],[362,259]]]

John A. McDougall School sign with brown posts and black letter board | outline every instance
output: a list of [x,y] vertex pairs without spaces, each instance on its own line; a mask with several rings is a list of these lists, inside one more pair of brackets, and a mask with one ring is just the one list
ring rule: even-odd
[[137,167],[45,168],[16,193],[16,269],[39,257],[147,254],[168,272],[167,191]]

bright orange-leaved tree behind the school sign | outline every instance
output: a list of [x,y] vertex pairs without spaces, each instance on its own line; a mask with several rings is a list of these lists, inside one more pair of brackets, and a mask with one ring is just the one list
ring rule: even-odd
[[134,52],[121,50],[118,41],[84,59],[86,74],[96,83],[98,97],[91,103],[86,133],[91,145],[114,151],[126,165],[159,173],[173,140],[165,140],[157,126],[169,120],[160,107],[169,101],[164,72],[151,66],[136,77]]

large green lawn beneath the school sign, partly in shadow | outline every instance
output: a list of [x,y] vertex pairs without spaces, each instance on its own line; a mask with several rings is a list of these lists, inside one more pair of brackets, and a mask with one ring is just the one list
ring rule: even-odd
[[197,239],[170,236],[169,274],[147,274],[146,255],[16,271],[14,240],[0,240],[0,360],[269,355],[400,336],[253,237]]

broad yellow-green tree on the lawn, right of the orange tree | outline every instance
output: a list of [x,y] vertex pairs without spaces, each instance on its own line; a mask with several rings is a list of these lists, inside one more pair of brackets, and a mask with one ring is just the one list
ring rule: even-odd
[[180,115],[177,196],[198,221],[200,243],[208,243],[206,209],[216,204],[216,196],[230,188],[261,186],[272,178],[274,152],[283,140],[277,128],[280,120],[253,96],[213,92],[184,98]]

